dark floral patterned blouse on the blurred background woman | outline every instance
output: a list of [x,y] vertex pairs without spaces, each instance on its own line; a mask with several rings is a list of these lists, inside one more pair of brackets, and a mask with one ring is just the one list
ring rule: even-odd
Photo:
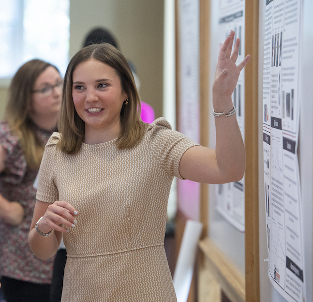
[[[40,141],[46,144],[53,131],[40,129],[35,124],[32,127]],[[18,138],[12,135],[5,121],[0,122],[0,144],[7,151],[6,168],[0,173],[0,194],[19,202],[25,211],[23,222],[16,227],[0,220],[0,277],[49,284],[54,258],[46,261],[37,258],[28,244],[36,202],[33,182],[38,169],[27,166]]]

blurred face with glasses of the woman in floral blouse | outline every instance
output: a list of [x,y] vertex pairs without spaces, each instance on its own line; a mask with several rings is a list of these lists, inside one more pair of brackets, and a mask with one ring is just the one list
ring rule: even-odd
[[33,86],[30,116],[33,120],[58,114],[62,79],[59,72],[48,66],[36,79]]

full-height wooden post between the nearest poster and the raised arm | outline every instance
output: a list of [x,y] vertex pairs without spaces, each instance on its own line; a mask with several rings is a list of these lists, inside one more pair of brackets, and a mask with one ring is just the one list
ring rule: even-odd
[[246,301],[260,301],[258,212],[258,39],[259,1],[246,1],[245,51],[245,280]]

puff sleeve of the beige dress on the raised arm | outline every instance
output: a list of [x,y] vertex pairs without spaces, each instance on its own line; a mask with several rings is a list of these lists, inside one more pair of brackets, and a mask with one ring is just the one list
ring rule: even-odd
[[182,133],[172,130],[170,123],[164,118],[156,119],[147,131],[153,155],[159,166],[166,173],[185,180],[179,173],[180,159],[189,148],[199,144]]

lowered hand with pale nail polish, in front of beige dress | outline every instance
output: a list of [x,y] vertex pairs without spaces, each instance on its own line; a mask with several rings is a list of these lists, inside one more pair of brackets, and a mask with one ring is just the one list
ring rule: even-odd
[[[68,232],[69,229],[75,227],[77,215],[78,212],[67,201],[57,200],[48,206],[43,219],[38,223],[38,228],[44,233],[48,233],[52,229]],[[62,224],[69,229],[61,227]]]

